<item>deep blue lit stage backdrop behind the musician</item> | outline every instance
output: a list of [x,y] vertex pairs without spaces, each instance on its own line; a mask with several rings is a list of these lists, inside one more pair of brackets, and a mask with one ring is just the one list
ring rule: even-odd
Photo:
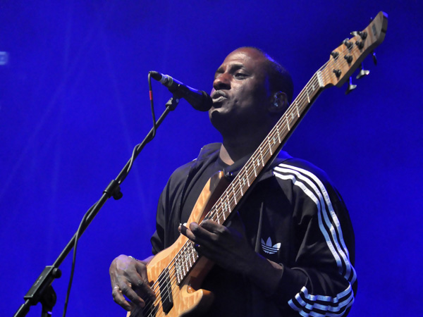
[[[422,254],[421,1],[0,1],[1,316],[12,316],[82,215],[152,124],[147,72],[209,91],[238,46],[293,74],[295,93],[349,33],[379,11],[388,32],[371,73],[326,90],[286,145],[326,170],[348,204],[359,289],[350,316],[419,316]],[[171,94],[153,82],[156,112]],[[78,245],[68,316],[124,316],[109,263],[150,254],[171,172],[219,142],[182,101]],[[71,257],[54,282],[61,316]],[[39,316],[40,306],[28,316]]]

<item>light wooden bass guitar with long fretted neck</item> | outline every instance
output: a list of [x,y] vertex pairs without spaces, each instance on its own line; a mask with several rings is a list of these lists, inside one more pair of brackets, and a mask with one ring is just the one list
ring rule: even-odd
[[[276,158],[319,94],[328,87],[341,87],[348,80],[363,59],[384,41],[387,25],[388,16],[379,12],[364,30],[353,32],[352,38],[345,39],[331,52],[329,61],[314,73],[233,181],[229,182],[220,172],[207,182],[188,225],[191,222],[201,223],[205,217],[216,223],[225,223],[243,203],[255,180]],[[367,74],[362,70],[360,75]],[[348,89],[353,89],[351,83]],[[187,237],[180,235],[171,247],[161,251],[147,264],[147,276],[156,299],[147,301],[142,311],[133,311],[128,316],[200,315],[213,299],[211,292],[200,289],[212,266],[211,261],[197,254]]]

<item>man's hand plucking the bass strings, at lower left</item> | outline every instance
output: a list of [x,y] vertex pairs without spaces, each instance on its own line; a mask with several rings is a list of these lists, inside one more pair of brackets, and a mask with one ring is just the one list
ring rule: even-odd
[[122,254],[111,262],[109,273],[113,299],[126,311],[144,307],[147,300],[154,301],[155,295],[147,279],[149,260],[151,258],[139,261]]

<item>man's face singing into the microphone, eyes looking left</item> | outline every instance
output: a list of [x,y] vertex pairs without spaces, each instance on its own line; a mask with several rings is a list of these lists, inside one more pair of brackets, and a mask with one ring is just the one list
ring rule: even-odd
[[[269,115],[271,100],[266,73],[266,57],[250,48],[237,49],[226,56],[214,75],[209,118],[220,132],[239,125],[255,128]],[[228,130],[229,129],[229,130]]]

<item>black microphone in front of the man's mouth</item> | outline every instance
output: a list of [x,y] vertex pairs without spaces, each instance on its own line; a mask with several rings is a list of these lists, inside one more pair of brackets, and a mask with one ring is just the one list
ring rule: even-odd
[[183,98],[188,101],[195,110],[209,111],[209,109],[212,108],[213,99],[207,92],[191,88],[169,75],[154,71],[149,73],[155,80],[168,87],[169,92],[175,94],[178,98]]

